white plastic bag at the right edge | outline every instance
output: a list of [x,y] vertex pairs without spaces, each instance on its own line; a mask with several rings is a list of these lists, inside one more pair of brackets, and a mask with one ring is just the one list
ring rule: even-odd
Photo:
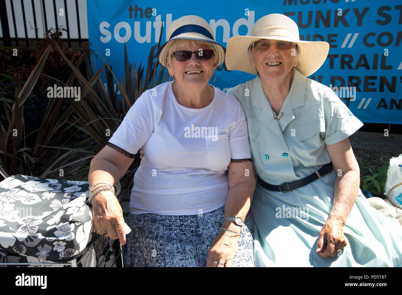
[[390,203],[402,209],[402,155],[390,159],[384,190]]

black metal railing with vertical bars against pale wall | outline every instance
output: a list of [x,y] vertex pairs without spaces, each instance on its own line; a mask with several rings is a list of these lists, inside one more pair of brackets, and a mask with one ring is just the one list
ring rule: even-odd
[[[11,8],[11,13],[7,11],[7,6],[6,4],[9,4],[9,7]],[[22,20],[16,19],[16,14],[15,14],[15,4],[21,2],[21,12],[22,12]],[[2,27],[2,33],[3,33],[3,37],[0,38],[0,42],[2,41],[3,43],[3,47],[9,47],[12,46],[12,41],[15,42],[16,46],[19,46],[20,41],[21,40],[25,40],[25,44],[28,47],[29,46],[29,37],[28,37],[28,30],[27,30],[27,16],[29,16],[29,13],[32,13],[33,16],[33,22],[34,22],[34,26],[35,26],[35,38],[36,39],[41,39],[40,36],[38,36],[38,30],[37,30],[37,16],[35,13],[35,3],[34,0],[31,0],[31,8],[32,10],[29,11],[29,9],[26,9],[24,6],[24,2],[25,4],[27,3],[27,1],[24,0],[0,0],[0,21],[1,21],[1,27]],[[47,3],[47,8],[51,9],[53,8],[53,15],[54,15],[54,23],[55,23],[55,27],[58,27],[58,21],[57,21],[57,6],[56,6],[56,1],[46,1]],[[29,3],[29,2],[28,2]],[[37,3],[37,2],[36,2]],[[69,6],[70,6],[70,13],[74,13],[72,8],[71,8],[71,4],[74,2],[69,2]],[[44,27],[44,31],[46,32],[48,30],[48,19],[47,19],[47,15],[46,15],[46,5],[45,5],[45,0],[41,0],[41,2],[39,2],[39,4],[41,4],[39,7],[36,7],[37,9],[39,8],[42,12],[42,19],[40,20],[41,22],[43,22],[43,27]],[[36,5],[38,6],[38,5]],[[49,7],[50,6],[50,7]],[[53,6],[53,7],[51,7]],[[75,0],[75,10],[76,10],[76,16],[77,16],[77,28],[78,28],[78,39],[72,39],[70,36],[70,23],[69,23],[69,19],[68,19],[68,6],[67,6],[67,0],[64,0],[64,15],[66,18],[66,30],[67,30],[67,38],[63,38],[64,40],[66,40],[68,42],[68,47],[71,47],[71,42],[72,41],[78,41],[79,43],[81,43],[83,40],[87,41],[88,39],[82,39],[81,37],[81,28],[80,28],[80,14],[79,14],[79,10],[78,10],[78,0]],[[49,11],[49,10],[48,10]],[[10,15],[8,15],[10,14]],[[74,14],[73,14],[74,15]],[[12,28],[14,28],[14,34],[15,37],[11,38],[10,37],[10,26],[8,25],[8,21],[9,19],[12,19]],[[50,21],[50,20],[49,20]],[[24,26],[24,33],[25,36],[24,37],[18,37],[18,33],[17,33],[17,26],[16,23],[17,22],[23,22],[23,26]],[[42,37],[43,38],[43,37]]]

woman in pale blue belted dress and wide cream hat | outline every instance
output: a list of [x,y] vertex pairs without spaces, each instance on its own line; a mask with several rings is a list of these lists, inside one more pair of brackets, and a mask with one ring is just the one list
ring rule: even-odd
[[300,41],[282,14],[228,41],[228,69],[258,75],[227,91],[246,114],[258,174],[255,265],[402,266],[401,226],[359,189],[348,137],[363,124],[329,87],[307,78],[328,50],[326,42]]

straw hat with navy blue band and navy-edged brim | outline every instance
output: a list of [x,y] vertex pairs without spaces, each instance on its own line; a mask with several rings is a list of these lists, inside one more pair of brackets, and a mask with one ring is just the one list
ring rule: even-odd
[[212,44],[213,53],[218,57],[217,66],[224,62],[226,48],[215,42],[211,26],[201,17],[196,15],[186,15],[175,20],[168,31],[169,40],[161,45],[156,52],[159,62],[164,67],[166,65],[166,56],[172,41],[177,39],[189,39],[203,41]]

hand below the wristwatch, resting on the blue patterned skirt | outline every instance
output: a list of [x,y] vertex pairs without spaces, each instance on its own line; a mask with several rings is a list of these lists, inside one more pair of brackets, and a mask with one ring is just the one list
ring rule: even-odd
[[[234,255],[237,250],[238,235],[226,234],[223,230],[219,232],[209,248],[207,267],[232,267]],[[218,262],[224,263],[218,264]]]

